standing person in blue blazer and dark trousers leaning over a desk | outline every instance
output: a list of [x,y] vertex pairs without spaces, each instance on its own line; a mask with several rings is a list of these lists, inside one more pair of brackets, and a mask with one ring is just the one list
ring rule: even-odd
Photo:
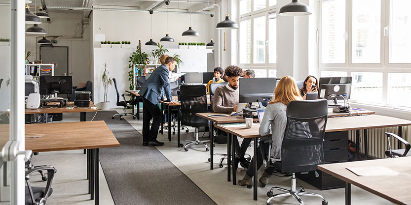
[[164,98],[164,95],[170,104],[178,103],[173,101],[170,85],[168,84],[168,72],[174,70],[176,62],[176,59],[173,57],[165,59],[164,64],[154,69],[139,92],[143,98],[143,146],[164,145],[164,143],[157,141],[158,128],[161,122],[161,112],[158,103]]

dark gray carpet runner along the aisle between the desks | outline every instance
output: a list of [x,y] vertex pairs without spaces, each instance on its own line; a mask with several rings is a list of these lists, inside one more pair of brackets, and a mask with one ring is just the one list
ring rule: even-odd
[[[98,112],[120,147],[100,149],[100,163],[116,205],[216,204],[115,111]],[[87,115],[91,120],[94,115]]]

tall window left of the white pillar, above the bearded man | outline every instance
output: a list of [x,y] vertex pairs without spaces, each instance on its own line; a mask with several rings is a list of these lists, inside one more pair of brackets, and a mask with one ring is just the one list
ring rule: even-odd
[[[277,62],[276,0],[238,0],[238,64],[256,77],[275,77]],[[272,71],[274,70],[274,71]]]

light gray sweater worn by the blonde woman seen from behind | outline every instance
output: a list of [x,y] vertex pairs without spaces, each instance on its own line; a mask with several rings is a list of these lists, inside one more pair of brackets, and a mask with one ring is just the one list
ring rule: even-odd
[[271,162],[281,161],[281,144],[283,143],[285,127],[287,124],[286,115],[287,106],[283,103],[274,103],[267,105],[265,108],[264,117],[260,122],[259,133],[261,136],[267,136],[272,132],[270,159]]

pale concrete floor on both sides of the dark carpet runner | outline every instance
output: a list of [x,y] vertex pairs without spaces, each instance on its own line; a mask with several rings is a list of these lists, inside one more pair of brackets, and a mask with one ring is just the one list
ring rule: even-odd
[[[118,112],[121,112],[120,110]],[[142,117],[140,120],[132,119],[130,116],[124,117],[132,126],[140,133],[142,130]],[[77,114],[64,114],[63,121],[78,121]],[[182,139],[193,138],[193,128],[190,132],[182,132]],[[200,133],[202,136],[203,133]],[[208,133],[205,133],[207,136]],[[201,139],[201,138],[200,138]],[[201,188],[211,199],[219,205],[240,204],[240,205],[265,205],[267,199],[266,192],[272,186],[280,186],[288,189],[290,187],[290,177],[272,176],[270,183],[265,188],[258,188],[258,201],[253,201],[253,189],[247,189],[239,185],[233,186],[232,182],[227,181],[226,161],[224,167],[219,168],[218,163],[221,156],[214,157],[214,170],[210,170],[210,164],[207,161],[210,154],[205,151],[203,146],[194,146],[189,148],[188,152],[183,148],[177,148],[177,136],[172,136],[172,141],[167,139],[167,132],[163,135],[158,135],[158,140],[164,142],[164,146],[159,146],[157,149],[168,158],[178,169],[188,176],[199,188]],[[248,153],[252,154],[252,147],[248,149]],[[226,153],[226,145],[217,144],[215,153]],[[48,205],[92,205],[94,201],[90,201],[90,195],[87,193],[86,180],[86,155],[82,154],[82,150],[59,151],[59,152],[42,152],[33,158],[35,165],[51,164],[57,169],[57,173],[53,180],[53,194],[47,200]],[[3,168],[1,168],[2,170]],[[259,176],[262,174],[262,169]],[[237,180],[245,175],[245,169],[237,169]],[[31,177],[34,185],[41,182],[39,175]],[[332,189],[320,191],[315,187],[297,179],[297,186],[303,186],[306,192],[314,192],[321,194],[326,198],[330,205],[344,205],[345,195],[344,189]],[[178,188],[178,187],[174,187]],[[9,204],[8,193],[9,186],[3,187],[1,181],[1,203]],[[389,201],[382,199],[374,194],[364,191],[356,186],[352,186],[352,204],[353,205],[391,205]],[[274,192],[278,193],[278,192]],[[302,197],[305,205],[319,205],[321,199]],[[200,202],[201,203],[201,202]],[[283,198],[272,201],[273,204],[297,205],[297,201],[293,198]],[[107,181],[100,169],[100,204],[113,205],[110,190]],[[184,204],[184,202],[182,202]]]

